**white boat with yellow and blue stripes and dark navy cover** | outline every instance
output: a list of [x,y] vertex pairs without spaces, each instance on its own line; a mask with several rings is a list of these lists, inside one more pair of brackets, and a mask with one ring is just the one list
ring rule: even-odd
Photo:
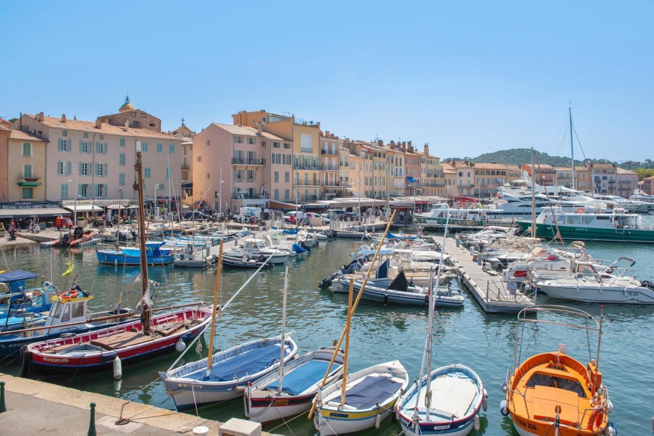
[[409,386],[409,374],[397,360],[373,365],[346,377],[343,404],[340,383],[318,390],[313,422],[319,436],[379,427],[379,423],[393,413],[396,401]]

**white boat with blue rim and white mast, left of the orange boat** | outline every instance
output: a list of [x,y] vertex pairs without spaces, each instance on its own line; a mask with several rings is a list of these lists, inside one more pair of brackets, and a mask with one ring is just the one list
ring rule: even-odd
[[[445,236],[447,226],[445,223]],[[436,289],[440,282],[439,261],[436,276]],[[433,279],[432,279],[433,280]],[[432,283],[433,284],[433,283]],[[436,293],[430,285],[430,299]],[[472,369],[456,364],[447,365],[432,371],[432,327],[434,324],[434,304],[430,304],[427,321],[427,338],[422,357],[419,381],[415,382],[398,400],[396,409],[404,433],[418,435],[455,435],[466,436],[473,428],[479,430],[479,409],[486,410],[486,391],[479,376]],[[422,375],[424,362],[427,363],[426,374]],[[422,392],[424,390],[424,396]]]

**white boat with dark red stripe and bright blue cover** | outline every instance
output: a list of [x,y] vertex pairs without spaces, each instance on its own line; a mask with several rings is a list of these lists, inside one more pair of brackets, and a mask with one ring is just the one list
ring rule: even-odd
[[333,349],[302,355],[284,365],[282,371],[250,382],[245,390],[245,416],[267,423],[296,416],[311,408],[318,386],[327,372],[326,384],[343,377],[343,354],[337,353],[331,368]]

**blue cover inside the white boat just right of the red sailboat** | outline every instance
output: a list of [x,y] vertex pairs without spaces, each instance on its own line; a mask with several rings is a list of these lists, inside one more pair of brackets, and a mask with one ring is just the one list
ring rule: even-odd
[[189,374],[194,380],[210,380],[212,382],[228,382],[248,374],[256,374],[279,361],[279,346],[267,345],[244,353],[237,354],[211,366],[211,375],[205,379],[207,371]]

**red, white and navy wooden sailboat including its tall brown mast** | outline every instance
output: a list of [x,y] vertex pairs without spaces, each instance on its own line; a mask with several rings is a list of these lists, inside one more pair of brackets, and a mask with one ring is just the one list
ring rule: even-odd
[[[152,316],[150,281],[145,245],[145,217],[143,215],[143,156],[137,141],[137,181],[139,195],[139,257],[141,264],[141,317],[117,327],[97,329],[53,340],[34,342],[24,351],[24,365],[43,374],[97,372],[111,369],[114,360],[124,364],[152,359],[184,347],[184,342],[198,336],[211,321],[211,310],[198,304]],[[152,285],[154,287],[154,285]]]

